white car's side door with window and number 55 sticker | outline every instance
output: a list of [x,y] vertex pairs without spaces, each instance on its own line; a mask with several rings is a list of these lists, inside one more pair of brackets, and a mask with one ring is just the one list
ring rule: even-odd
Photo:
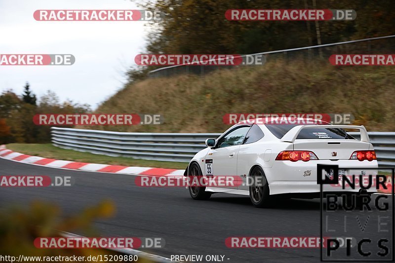
[[[204,160],[204,174],[213,176],[237,176],[237,153],[243,143],[249,125],[237,125],[218,138]],[[222,188],[237,188],[232,186]]]

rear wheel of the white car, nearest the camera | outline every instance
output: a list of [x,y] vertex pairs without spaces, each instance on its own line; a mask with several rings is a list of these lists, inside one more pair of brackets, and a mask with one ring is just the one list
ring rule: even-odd
[[[251,171],[250,176],[253,177],[254,182],[254,184],[249,188],[252,204],[258,208],[270,207],[269,183],[262,168],[259,166],[255,167]],[[257,178],[261,178],[261,182]]]

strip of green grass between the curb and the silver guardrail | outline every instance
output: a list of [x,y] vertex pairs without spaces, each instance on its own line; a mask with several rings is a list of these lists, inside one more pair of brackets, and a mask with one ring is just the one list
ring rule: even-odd
[[58,160],[102,163],[124,166],[142,166],[142,167],[158,167],[171,169],[185,169],[188,163],[185,162],[165,162],[153,160],[141,160],[127,157],[111,157],[101,154],[93,154],[88,152],[80,152],[75,150],[65,150],[54,147],[51,144],[8,144],[7,149],[20,153],[52,158]]

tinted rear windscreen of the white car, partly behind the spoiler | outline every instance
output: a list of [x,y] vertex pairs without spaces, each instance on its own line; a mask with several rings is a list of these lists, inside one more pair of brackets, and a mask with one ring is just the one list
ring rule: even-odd
[[[297,124],[265,124],[265,126],[278,138],[281,139],[290,129]],[[343,129],[312,128],[303,129],[296,139],[353,139]]]

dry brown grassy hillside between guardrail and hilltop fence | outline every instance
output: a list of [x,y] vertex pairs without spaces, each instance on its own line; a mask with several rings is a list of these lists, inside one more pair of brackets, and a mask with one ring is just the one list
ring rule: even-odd
[[161,125],[105,128],[118,131],[222,132],[229,127],[225,113],[352,113],[355,124],[370,131],[394,131],[394,80],[390,66],[276,61],[205,76],[146,79],[120,90],[97,112],[164,116]]

